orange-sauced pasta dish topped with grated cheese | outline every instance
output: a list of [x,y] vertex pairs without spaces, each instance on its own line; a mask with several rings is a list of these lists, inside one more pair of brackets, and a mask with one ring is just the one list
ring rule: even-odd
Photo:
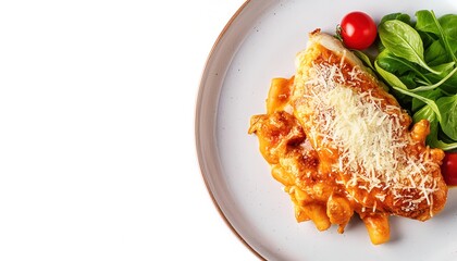
[[425,146],[428,121],[411,123],[354,53],[317,29],[295,75],[272,79],[267,113],[248,132],[297,222],[344,233],[357,213],[379,245],[390,239],[388,216],[425,221],[446,202],[444,152]]

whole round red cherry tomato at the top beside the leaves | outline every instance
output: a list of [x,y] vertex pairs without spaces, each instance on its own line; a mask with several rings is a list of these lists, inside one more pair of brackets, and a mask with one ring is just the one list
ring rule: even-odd
[[349,49],[367,49],[376,39],[376,24],[370,15],[363,12],[356,11],[346,14],[339,27],[343,44]]

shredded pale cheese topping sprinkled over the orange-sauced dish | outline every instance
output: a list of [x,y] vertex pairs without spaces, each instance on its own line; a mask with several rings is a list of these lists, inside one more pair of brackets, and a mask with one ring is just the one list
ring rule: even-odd
[[[358,90],[362,71],[345,66],[343,62],[313,64],[305,83],[313,109],[311,133],[321,142],[314,148],[338,151],[333,171],[349,175],[346,188],[368,192],[376,188],[378,200],[391,195],[393,203],[407,212],[423,201],[432,209],[431,194],[437,186],[427,173],[437,164],[429,154],[407,153],[410,139],[402,109],[383,104],[372,91]],[[375,208],[376,201],[373,211]]]

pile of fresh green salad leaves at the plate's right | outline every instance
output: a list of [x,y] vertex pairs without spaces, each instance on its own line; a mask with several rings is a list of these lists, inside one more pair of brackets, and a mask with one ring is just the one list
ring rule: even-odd
[[412,21],[392,13],[378,30],[379,54],[370,67],[415,123],[430,122],[429,146],[457,149],[457,15],[420,10]]

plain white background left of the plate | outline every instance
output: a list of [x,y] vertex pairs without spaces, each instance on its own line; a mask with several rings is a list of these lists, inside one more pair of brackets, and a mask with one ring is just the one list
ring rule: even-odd
[[196,159],[243,0],[0,2],[0,260],[257,260]]

